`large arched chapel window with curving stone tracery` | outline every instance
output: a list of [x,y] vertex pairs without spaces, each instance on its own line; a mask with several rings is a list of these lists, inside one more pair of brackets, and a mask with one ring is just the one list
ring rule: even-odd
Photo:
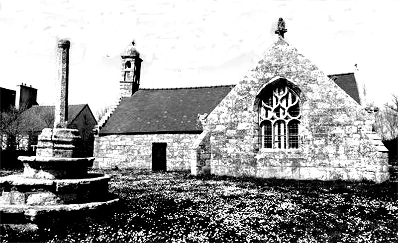
[[262,148],[298,148],[301,113],[298,94],[285,83],[260,94],[258,108]]

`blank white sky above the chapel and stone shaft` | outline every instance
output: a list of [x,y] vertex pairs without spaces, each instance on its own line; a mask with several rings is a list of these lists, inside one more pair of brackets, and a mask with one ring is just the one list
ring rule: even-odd
[[[57,3],[55,3],[57,2]],[[55,47],[72,42],[69,103],[93,112],[117,98],[119,55],[132,39],[141,87],[236,84],[275,40],[326,74],[354,71],[379,105],[398,94],[397,0],[0,0],[0,86],[54,100]]]

